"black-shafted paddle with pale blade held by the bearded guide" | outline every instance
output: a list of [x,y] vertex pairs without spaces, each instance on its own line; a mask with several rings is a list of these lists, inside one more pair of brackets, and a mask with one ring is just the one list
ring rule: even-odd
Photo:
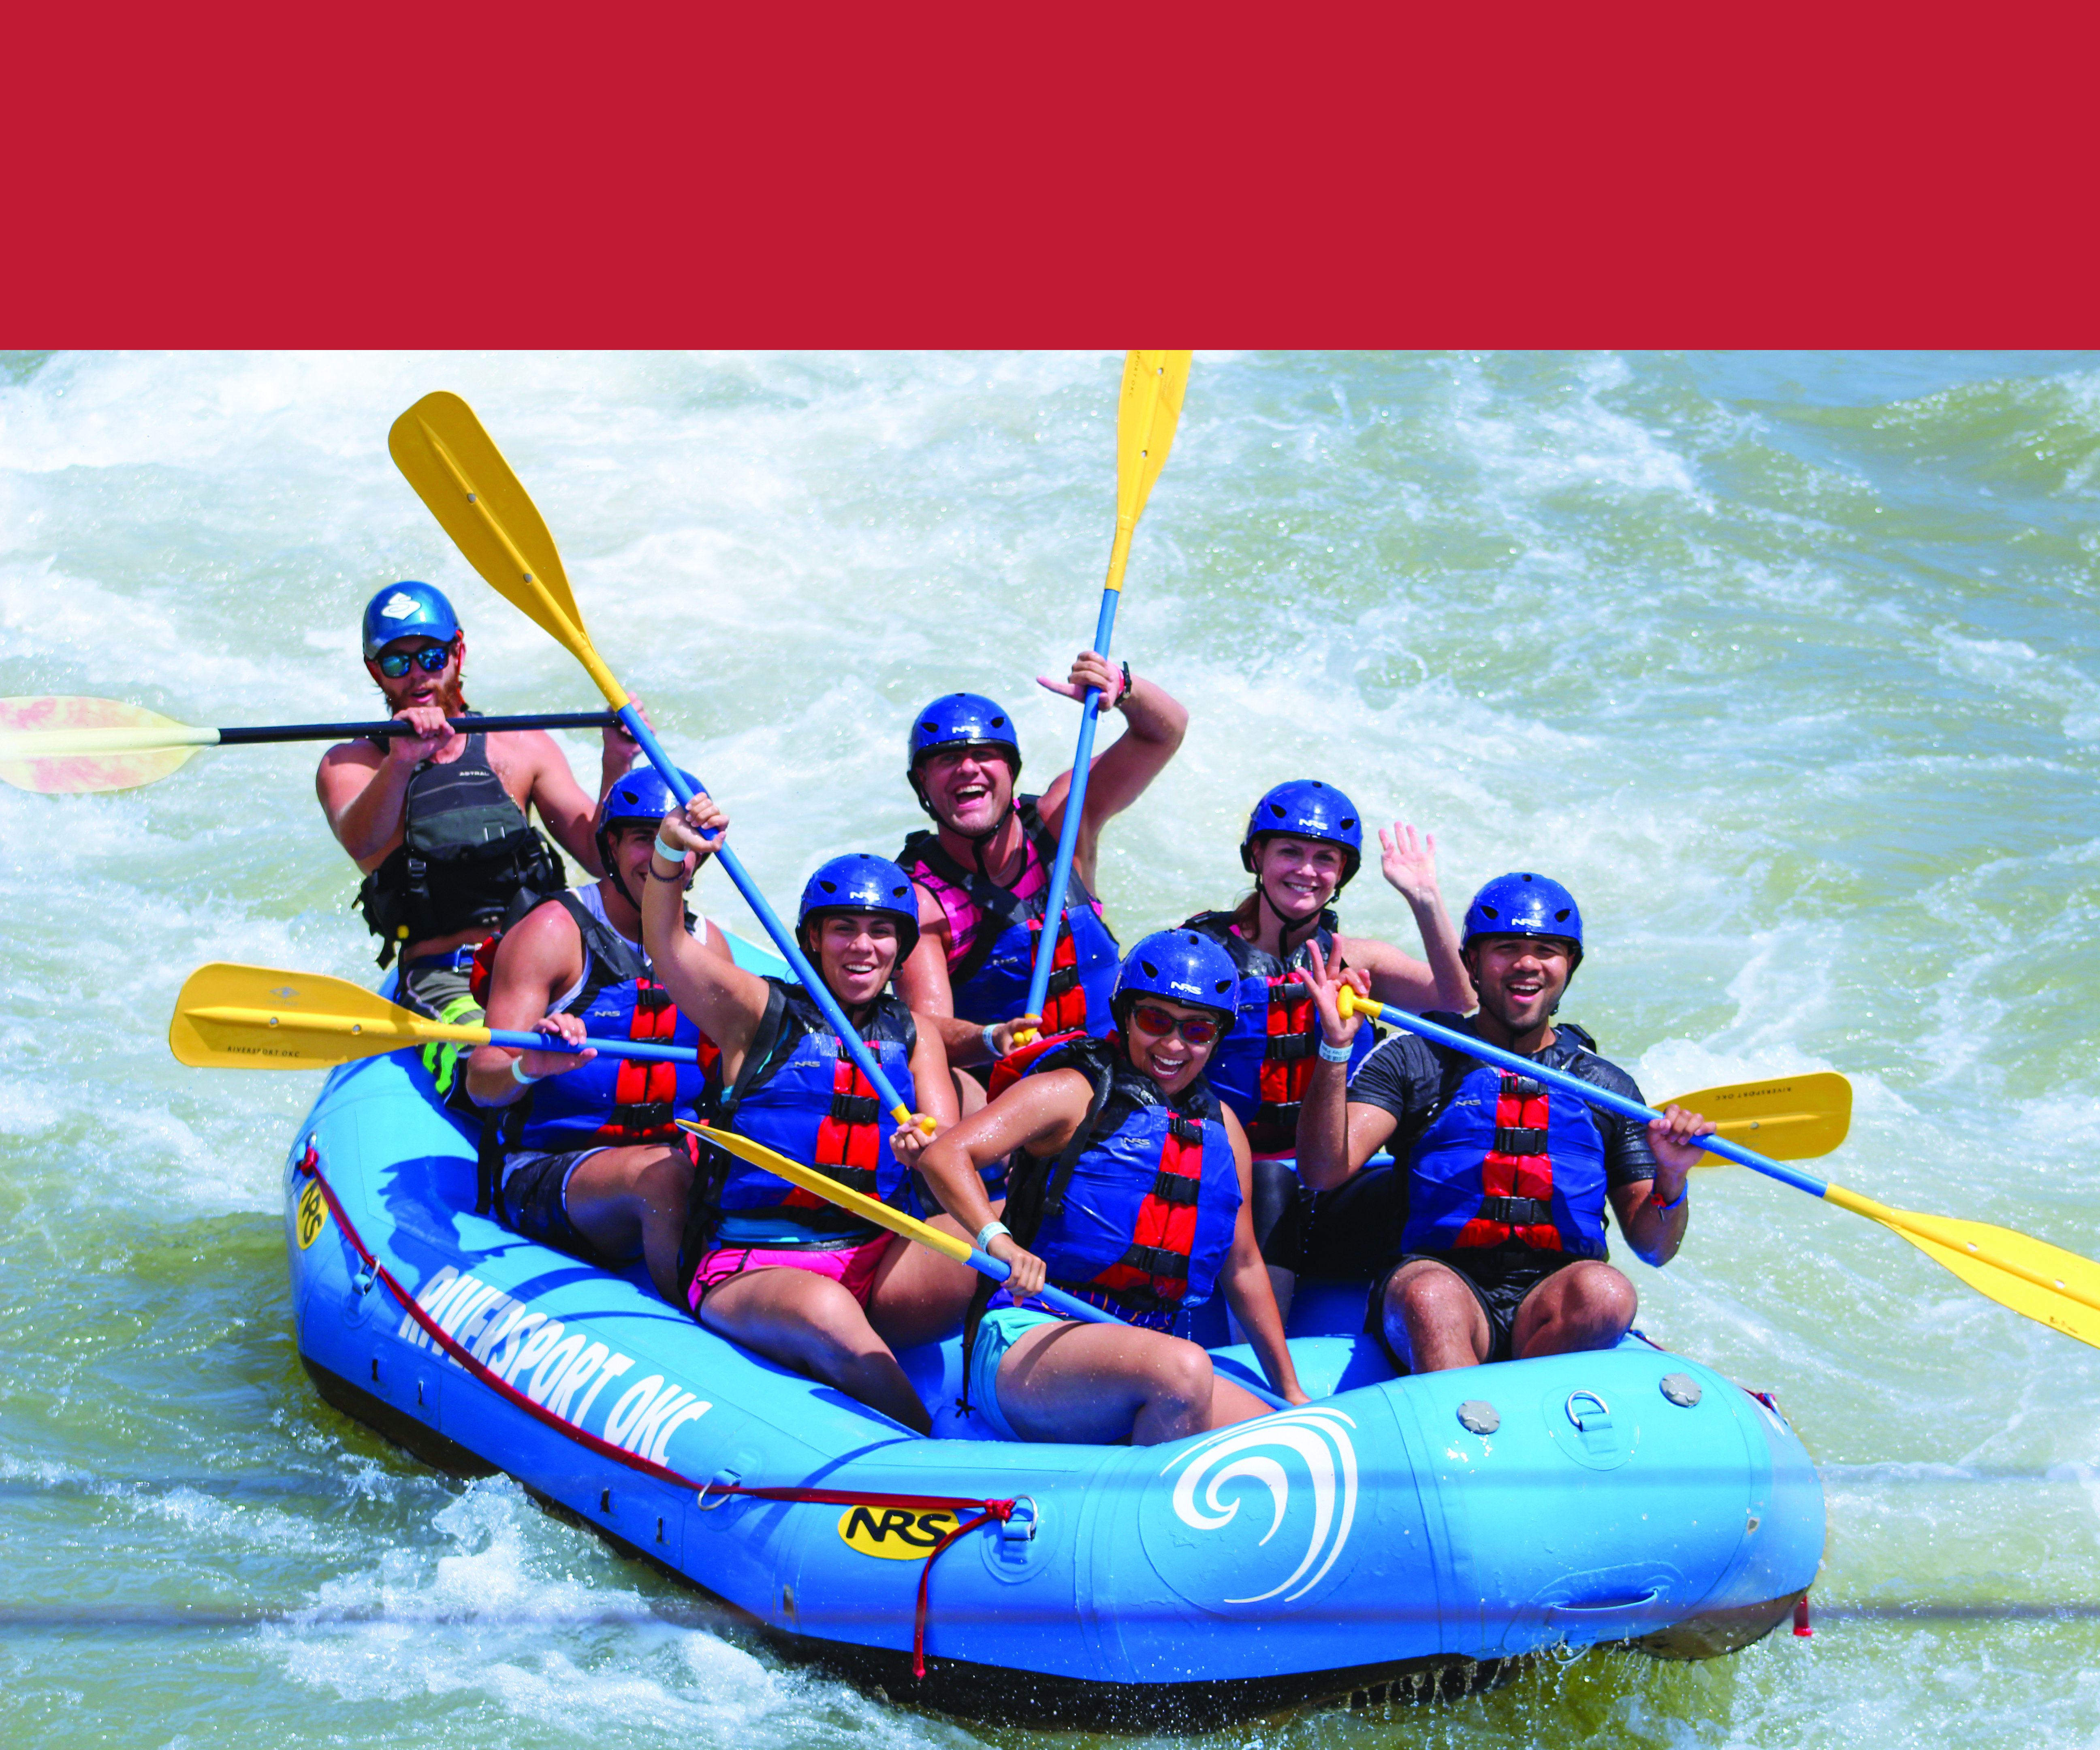
[[[542,712],[536,716],[454,716],[462,735],[504,729],[609,729],[609,710]],[[86,796],[136,790],[181,771],[204,748],[260,742],[355,742],[359,735],[405,735],[407,723],[265,723],[237,729],[191,729],[172,716],[122,700],[48,695],[0,700],[0,784],[40,796]]]

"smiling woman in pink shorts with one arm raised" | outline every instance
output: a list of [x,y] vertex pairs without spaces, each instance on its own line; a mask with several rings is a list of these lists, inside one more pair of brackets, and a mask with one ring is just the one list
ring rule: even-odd
[[[798,983],[722,962],[680,926],[693,857],[716,849],[727,828],[706,792],[666,813],[643,895],[643,939],[659,956],[664,987],[720,1048],[712,1122],[901,1206],[924,1132],[890,1128],[874,1086]],[[796,935],[890,1086],[937,1128],[953,1124],[941,1040],[888,994],[918,937],[905,872],[865,851],[832,857],[802,889]],[[964,1265],[737,1158],[720,1166],[706,1206],[695,1195],[695,1214],[685,1298],[704,1326],[928,1431],[926,1405],[892,1351],[956,1328],[974,1282]]]

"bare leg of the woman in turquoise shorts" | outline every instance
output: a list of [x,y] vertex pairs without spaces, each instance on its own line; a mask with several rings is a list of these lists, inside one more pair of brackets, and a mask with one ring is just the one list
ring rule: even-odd
[[1214,1426],[1214,1397],[1210,1355],[1157,1330],[1037,1326],[1000,1361],[1000,1412],[1023,1439],[1157,1445]]

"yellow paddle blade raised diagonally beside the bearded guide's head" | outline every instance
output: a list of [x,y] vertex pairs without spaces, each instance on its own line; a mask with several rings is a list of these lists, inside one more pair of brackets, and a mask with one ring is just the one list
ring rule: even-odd
[[445,389],[424,395],[393,422],[386,450],[466,563],[567,647],[620,710],[628,695],[590,647],[554,536],[475,410]]

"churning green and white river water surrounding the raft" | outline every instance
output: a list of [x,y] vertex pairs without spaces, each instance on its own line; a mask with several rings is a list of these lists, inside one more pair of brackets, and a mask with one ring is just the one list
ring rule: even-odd
[[[454,592],[485,710],[588,708],[393,471],[481,410],[592,634],[792,897],[892,849],[909,710],[1090,632],[1111,357],[130,359],[0,372],[0,693],[349,718],[363,599]],[[1203,355],[1117,647],[1195,723],[1109,836],[1126,939],[1239,887],[1266,784],[1436,832],[1455,905],[1546,868],[1569,1006],[1651,1095],[1854,1078],[1831,1176],[2100,1254],[2100,361]],[[588,775],[588,744],[571,739]],[[0,792],[0,1597],[8,1742],[1052,1744],[754,1651],[508,1483],[298,1370],[275,1164],[304,1076],[178,1069],[183,975],[370,977],[313,750]],[[1401,935],[1361,882],[1354,929]],[[712,903],[752,929],[727,891]],[[1642,1324],[1774,1389],[1825,1464],[1812,1643],[1592,1653],[1235,1746],[2062,1744],[2100,1735],[2100,1361],[1894,1235],[1701,1174]]]

